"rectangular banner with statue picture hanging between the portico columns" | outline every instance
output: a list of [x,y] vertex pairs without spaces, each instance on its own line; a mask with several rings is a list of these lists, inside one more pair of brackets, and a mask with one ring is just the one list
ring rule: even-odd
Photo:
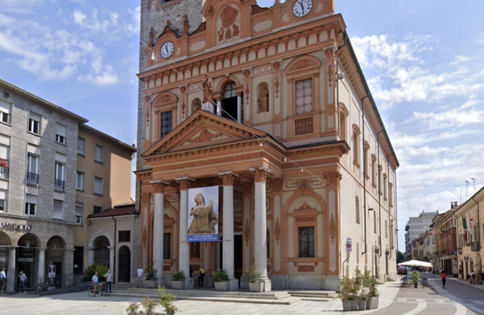
[[188,190],[188,241],[219,241],[219,186]]

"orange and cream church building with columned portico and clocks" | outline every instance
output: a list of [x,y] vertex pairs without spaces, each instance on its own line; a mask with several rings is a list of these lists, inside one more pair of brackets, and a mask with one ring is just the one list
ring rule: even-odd
[[[399,161],[334,1],[142,0],[141,40],[134,257],[159,284],[396,278]],[[188,242],[188,190],[213,186],[218,239]]]

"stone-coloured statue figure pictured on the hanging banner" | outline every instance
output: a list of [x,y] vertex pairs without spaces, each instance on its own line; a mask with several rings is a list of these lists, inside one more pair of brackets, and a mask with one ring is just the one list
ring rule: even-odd
[[219,222],[216,216],[213,204],[210,200],[208,205],[205,205],[205,198],[202,193],[195,196],[196,206],[192,207],[190,216],[193,216],[193,221],[188,228],[188,234],[215,234],[215,225]]

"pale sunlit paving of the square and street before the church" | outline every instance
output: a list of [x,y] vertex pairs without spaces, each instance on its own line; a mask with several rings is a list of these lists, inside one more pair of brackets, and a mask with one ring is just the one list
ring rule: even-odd
[[[400,287],[400,282],[381,285],[380,309],[358,312],[374,315],[473,315],[484,314],[484,289],[466,281],[449,279],[447,289],[441,288],[437,276],[422,274],[435,283],[435,290],[419,285]],[[435,279],[435,280],[432,280]],[[141,298],[121,296],[88,296],[87,292],[36,297],[13,294],[0,297],[0,314],[125,314],[131,301]],[[201,301],[176,301],[177,314],[341,314],[341,301],[301,301],[293,305],[268,305],[257,303],[220,303]],[[161,309],[160,309],[161,311]],[[159,314],[162,314],[161,312]],[[356,314],[356,312],[345,312]]]

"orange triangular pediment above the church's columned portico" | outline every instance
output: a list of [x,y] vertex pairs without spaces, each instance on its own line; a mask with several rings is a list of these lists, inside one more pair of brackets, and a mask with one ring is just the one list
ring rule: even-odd
[[267,136],[261,130],[240,125],[232,119],[197,110],[167,136],[146,150],[143,157],[234,143],[252,139],[254,134],[258,137]]

